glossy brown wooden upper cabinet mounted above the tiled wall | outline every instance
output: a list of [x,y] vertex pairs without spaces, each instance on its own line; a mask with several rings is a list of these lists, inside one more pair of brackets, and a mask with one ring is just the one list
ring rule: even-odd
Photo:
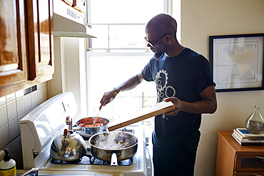
[[54,73],[52,0],[0,0],[0,97]]

